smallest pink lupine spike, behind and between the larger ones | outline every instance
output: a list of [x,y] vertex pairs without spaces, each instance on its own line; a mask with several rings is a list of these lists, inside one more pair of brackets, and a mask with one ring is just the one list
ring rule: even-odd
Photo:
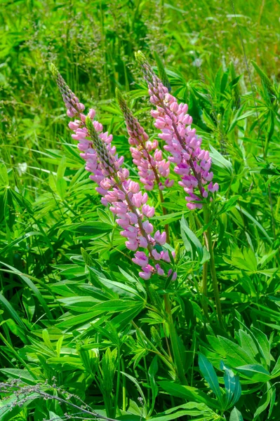
[[140,126],[138,119],[133,116],[119,89],[116,89],[116,99],[124,113],[126,128],[130,136],[128,139],[131,145],[130,151],[133,163],[138,167],[140,182],[144,184],[148,191],[154,189],[155,182],[161,190],[164,187],[172,187],[174,180],[168,178],[170,162],[163,158],[159,149],[159,142],[157,140],[149,141],[149,136]]

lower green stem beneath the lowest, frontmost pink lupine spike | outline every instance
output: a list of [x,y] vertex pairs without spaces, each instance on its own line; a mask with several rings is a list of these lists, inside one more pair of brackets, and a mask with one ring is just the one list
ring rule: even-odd
[[164,303],[166,307],[169,334],[170,334],[170,339],[171,339],[171,346],[172,346],[172,351],[173,351],[176,372],[182,385],[187,385],[184,367],[183,367],[182,359],[180,356],[180,349],[178,347],[177,333],[176,333],[175,326],[173,323],[169,294],[164,294]]

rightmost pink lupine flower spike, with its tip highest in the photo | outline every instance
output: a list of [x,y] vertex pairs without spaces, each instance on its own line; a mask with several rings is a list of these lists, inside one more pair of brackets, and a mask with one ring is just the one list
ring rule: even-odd
[[187,114],[187,104],[178,104],[168,93],[168,88],[154,74],[145,55],[138,51],[136,58],[148,84],[150,102],[156,106],[151,112],[156,119],[154,126],[161,130],[159,138],[166,142],[164,149],[172,155],[168,159],[175,163],[174,171],[181,176],[179,185],[187,193],[187,207],[202,208],[201,201],[208,197],[209,192],[217,192],[219,188],[218,183],[213,185],[212,182],[209,152],[201,149],[201,138],[191,127],[192,117]]

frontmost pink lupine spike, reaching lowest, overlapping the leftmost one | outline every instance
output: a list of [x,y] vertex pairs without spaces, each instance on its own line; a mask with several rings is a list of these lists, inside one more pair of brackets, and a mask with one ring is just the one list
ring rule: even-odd
[[[104,140],[95,130],[90,117],[86,117],[86,127],[93,143],[93,149],[98,156],[102,174],[105,176],[100,182],[100,187],[104,189],[101,194],[105,201],[111,204],[110,210],[116,215],[116,222],[124,229],[121,231],[121,235],[127,239],[126,247],[133,251],[138,248],[146,248],[148,251],[148,255],[146,255],[144,251],[138,250],[133,258],[133,262],[142,267],[139,276],[147,280],[153,273],[159,273],[159,270],[155,268],[156,260],[171,262],[167,250],[161,250],[158,253],[155,248],[156,244],[164,246],[166,233],[156,232],[156,238],[152,237],[154,227],[147,219],[147,213],[153,215],[154,208],[147,205],[147,193],[142,194],[138,182],[128,178],[128,170],[121,166],[122,159],[116,160],[112,155]],[[146,215],[142,212],[143,207],[145,207]],[[169,276],[172,273],[171,269]]]

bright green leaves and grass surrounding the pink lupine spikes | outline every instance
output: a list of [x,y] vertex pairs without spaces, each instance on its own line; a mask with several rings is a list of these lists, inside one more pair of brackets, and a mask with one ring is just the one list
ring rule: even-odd
[[[61,388],[77,406],[117,420],[279,420],[279,2],[260,3],[234,1],[236,27],[230,2],[2,1],[1,382],[55,382],[52,394]],[[189,105],[220,185],[208,221],[187,210],[172,171],[166,215],[156,189],[149,192],[153,225],[169,226],[176,252],[178,279],[165,283],[139,279],[84,170],[49,71],[55,62],[97,109],[136,178],[113,98],[116,88],[125,92],[156,137],[138,49]],[[65,420],[69,410],[32,394],[17,402],[13,394],[1,400],[0,421]]]

